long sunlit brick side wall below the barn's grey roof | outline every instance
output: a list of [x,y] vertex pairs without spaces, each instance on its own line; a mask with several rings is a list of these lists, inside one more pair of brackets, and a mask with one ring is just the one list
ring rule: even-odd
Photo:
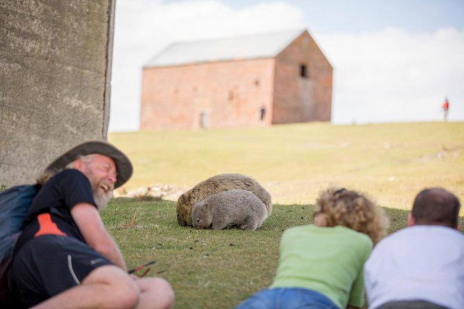
[[[141,129],[269,125],[274,59],[144,68]],[[266,107],[264,121],[259,109]]]

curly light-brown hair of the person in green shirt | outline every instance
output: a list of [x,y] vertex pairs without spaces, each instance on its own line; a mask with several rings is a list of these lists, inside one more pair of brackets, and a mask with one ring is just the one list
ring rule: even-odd
[[342,225],[365,233],[374,245],[386,236],[388,217],[383,209],[364,195],[345,188],[328,188],[316,201],[314,214],[325,215],[325,226]]

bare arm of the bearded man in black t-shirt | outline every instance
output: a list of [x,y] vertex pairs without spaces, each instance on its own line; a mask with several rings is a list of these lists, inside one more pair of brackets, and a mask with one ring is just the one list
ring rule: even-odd
[[71,215],[89,247],[108,258],[114,265],[127,270],[117,243],[106,231],[98,209],[92,204],[79,203],[71,208]]

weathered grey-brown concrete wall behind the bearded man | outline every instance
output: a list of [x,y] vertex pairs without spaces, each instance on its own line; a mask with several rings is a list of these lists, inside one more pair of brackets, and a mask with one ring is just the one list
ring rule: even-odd
[[0,1],[0,184],[105,139],[114,0]]

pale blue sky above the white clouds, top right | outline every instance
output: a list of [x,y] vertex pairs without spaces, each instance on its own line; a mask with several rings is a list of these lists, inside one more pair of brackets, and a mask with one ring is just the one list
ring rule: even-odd
[[[222,1],[246,8],[263,1]],[[388,27],[413,32],[464,28],[462,0],[290,0],[304,12],[303,21],[318,33],[363,33]]]

